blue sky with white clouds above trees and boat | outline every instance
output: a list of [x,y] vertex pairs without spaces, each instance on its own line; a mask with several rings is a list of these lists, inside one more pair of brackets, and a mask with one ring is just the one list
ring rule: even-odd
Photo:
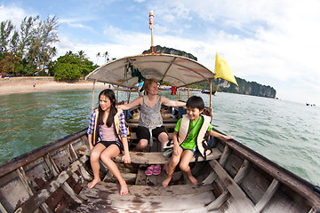
[[212,70],[218,52],[236,77],[320,106],[319,0],[0,0],[0,21],[19,28],[26,16],[56,16],[57,57],[84,51],[102,65],[98,52],[120,59],[149,49],[150,10],[155,45],[191,53]]

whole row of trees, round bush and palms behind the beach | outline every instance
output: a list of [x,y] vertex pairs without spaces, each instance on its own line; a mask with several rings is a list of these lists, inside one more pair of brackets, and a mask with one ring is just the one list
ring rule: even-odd
[[[40,20],[39,16],[25,17],[19,28],[12,20],[0,23],[0,75],[52,75],[57,80],[78,80],[97,65],[86,58],[84,51],[57,55],[59,20],[56,16]],[[97,53],[98,59],[109,61],[108,51]]]

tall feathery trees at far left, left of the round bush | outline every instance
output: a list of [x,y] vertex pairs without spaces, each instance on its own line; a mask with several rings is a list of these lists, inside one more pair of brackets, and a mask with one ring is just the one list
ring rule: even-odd
[[0,24],[0,73],[7,75],[34,75],[47,67],[57,50],[53,43],[59,42],[58,19],[46,20],[25,17],[19,30],[11,20]]

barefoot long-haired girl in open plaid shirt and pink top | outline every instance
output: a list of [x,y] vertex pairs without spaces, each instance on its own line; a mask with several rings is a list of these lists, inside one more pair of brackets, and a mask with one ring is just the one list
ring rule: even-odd
[[124,163],[131,162],[124,113],[120,109],[116,109],[114,91],[107,89],[100,92],[99,107],[92,112],[87,133],[93,171],[93,180],[88,183],[88,188],[93,188],[94,185],[100,182],[99,160],[101,159],[119,181],[120,194],[127,194],[128,186],[116,167],[116,163],[112,161],[112,158],[124,151],[122,160]]

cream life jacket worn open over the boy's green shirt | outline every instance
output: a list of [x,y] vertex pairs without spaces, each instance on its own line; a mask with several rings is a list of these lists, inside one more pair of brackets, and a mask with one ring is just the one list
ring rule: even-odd
[[[211,117],[200,114],[204,118],[204,122],[199,130],[199,133],[196,137],[196,147],[201,155],[205,158],[206,155],[210,154],[212,151],[208,150],[206,147],[208,146],[207,141],[205,139],[206,131],[208,130],[208,127],[211,123]],[[180,123],[180,129],[179,129],[179,135],[178,139],[179,141],[185,141],[188,136],[188,129],[190,125],[190,119],[188,118],[188,114],[183,114],[181,118]],[[182,142],[183,143],[183,142]]]

